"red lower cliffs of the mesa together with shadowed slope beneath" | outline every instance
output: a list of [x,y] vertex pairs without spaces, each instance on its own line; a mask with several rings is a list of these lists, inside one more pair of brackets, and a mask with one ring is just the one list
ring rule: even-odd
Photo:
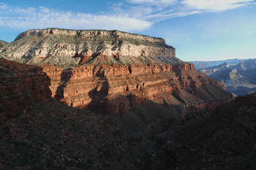
[[72,107],[102,109],[128,138],[151,138],[173,120],[232,100],[222,81],[191,63],[47,66],[44,72],[52,82],[52,97]]

